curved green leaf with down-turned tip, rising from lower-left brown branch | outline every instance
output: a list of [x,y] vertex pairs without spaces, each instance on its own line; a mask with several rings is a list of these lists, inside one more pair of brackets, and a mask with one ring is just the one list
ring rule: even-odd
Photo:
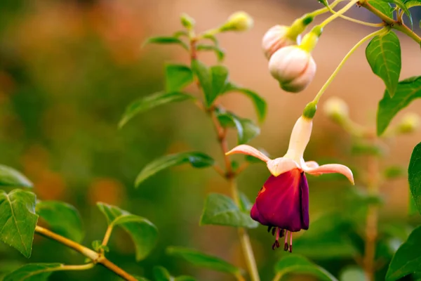
[[135,216],[119,207],[97,203],[109,226],[120,226],[131,236],[136,248],[136,260],[140,261],[154,249],[158,240],[158,230],[153,223],[141,216]]

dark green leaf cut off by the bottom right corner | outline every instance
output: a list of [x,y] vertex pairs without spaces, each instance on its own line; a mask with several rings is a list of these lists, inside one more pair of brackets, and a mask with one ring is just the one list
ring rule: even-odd
[[410,273],[421,272],[421,226],[410,233],[408,240],[394,254],[386,273],[386,280],[393,281]]

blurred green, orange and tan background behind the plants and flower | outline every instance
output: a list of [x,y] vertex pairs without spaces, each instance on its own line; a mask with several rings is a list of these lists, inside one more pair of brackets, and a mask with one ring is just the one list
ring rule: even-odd
[[[304,105],[349,48],[372,29],[342,19],[328,25],[314,51],[316,79],[300,94],[285,93],[268,73],[267,60],[260,50],[262,35],[273,25],[288,25],[303,13],[320,7],[314,0],[1,0],[1,164],[27,175],[41,200],[74,204],[83,217],[86,245],[101,239],[106,228],[95,202],[115,204],[149,218],[160,235],[158,246],[145,261],[135,262],[133,244],[125,233],[116,230],[112,235],[109,259],[129,272],[151,277],[152,266],[161,265],[174,275],[194,275],[198,280],[233,280],[228,275],[194,268],[165,253],[169,245],[193,247],[246,268],[234,229],[199,227],[206,194],[228,192],[226,183],[213,170],[180,166],[134,188],[140,169],[164,154],[200,150],[218,161],[222,159],[210,120],[188,103],[156,108],[117,129],[128,103],[163,89],[163,63],[188,62],[187,54],[178,46],[141,45],[149,36],[180,30],[179,17],[183,12],[196,19],[198,30],[220,25],[234,11],[250,13],[255,20],[253,30],[222,34],[220,44],[227,52],[225,65],[231,70],[232,81],[257,91],[269,104],[262,133],[251,144],[277,157],[285,152],[290,130]],[[420,10],[413,12],[415,32],[420,32]],[[354,8],[349,15],[376,20],[363,8]],[[320,20],[317,18],[316,22]],[[420,46],[401,34],[399,37],[403,51],[401,79],[419,75]],[[203,54],[201,60],[216,63],[212,54]],[[376,107],[383,91],[383,82],[371,73],[364,48],[360,48],[323,100],[340,96],[349,104],[354,121],[374,129]],[[256,119],[253,105],[239,94],[223,98],[222,104],[243,117]],[[404,112],[420,109],[421,103],[415,101]],[[233,133],[230,146],[235,145],[234,136]],[[414,133],[387,143],[388,156],[382,164],[406,166],[420,139],[421,133]],[[364,159],[354,157],[351,148],[352,139],[319,112],[305,157],[322,163],[341,162],[358,174],[364,169]],[[239,178],[239,187],[253,199],[268,175],[264,165],[250,166]],[[309,177],[309,184],[313,221],[328,212],[340,211],[349,200],[345,178]],[[382,192],[385,204],[381,221],[414,220],[407,216],[405,178],[385,182]],[[283,251],[272,251],[273,239],[265,227],[250,230],[250,237],[262,280],[269,280]],[[333,249],[332,254],[326,254],[323,245],[303,245],[297,246],[298,252],[307,253],[335,275],[344,266],[355,263],[354,249],[343,244],[341,251]],[[29,261],[83,263],[83,257],[60,244],[35,237]],[[26,262],[17,251],[0,244],[0,270],[4,272]],[[87,272],[55,273],[51,278],[117,279],[98,267]]]

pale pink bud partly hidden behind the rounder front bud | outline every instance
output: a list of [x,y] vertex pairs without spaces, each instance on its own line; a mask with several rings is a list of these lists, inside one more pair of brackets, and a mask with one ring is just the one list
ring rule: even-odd
[[300,44],[300,35],[295,38],[290,37],[289,30],[290,27],[285,25],[275,25],[267,30],[262,39],[262,49],[268,60],[280,48]]

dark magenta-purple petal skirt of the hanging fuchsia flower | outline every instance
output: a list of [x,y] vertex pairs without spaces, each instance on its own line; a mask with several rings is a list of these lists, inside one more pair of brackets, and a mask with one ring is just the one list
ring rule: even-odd
[[290,231],[309,227],[307,178],[298,169],[270,176],[260,190],[251,217],[265,226]]

